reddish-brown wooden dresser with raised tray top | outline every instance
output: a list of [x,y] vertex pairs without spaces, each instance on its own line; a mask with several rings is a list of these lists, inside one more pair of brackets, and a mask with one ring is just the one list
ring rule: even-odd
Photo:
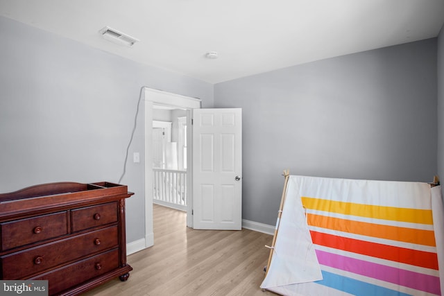
[[127,186],[60,182],[0,194],[1,279],[44,279],[49,295],[126,281]]

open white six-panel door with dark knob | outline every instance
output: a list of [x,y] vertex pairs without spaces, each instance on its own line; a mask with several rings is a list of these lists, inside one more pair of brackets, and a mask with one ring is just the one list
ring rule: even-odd
[[193,227],[242,227],[242,110],[193,110]]

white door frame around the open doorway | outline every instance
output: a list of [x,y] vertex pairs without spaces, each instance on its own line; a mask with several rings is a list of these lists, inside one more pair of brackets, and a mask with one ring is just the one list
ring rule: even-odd
[[[171,107],[182,108],[187,111],[187,125],[191,127],[192,109],[199,109],[201,101],[198,98],[191,98],[188,96],[181,96],[179,94],[172,94],[169,92],[163,92],[157,89],[144,88],[144,103],[145,103],[145,123],[144,123],[144,136],[145,136],[145,247],[151,247],[154,245],[154,233],[153,233],[153,105],[166,105]],[[193,209],[193,147],[192,147],[192,132],[187,134],[188,143],[190,145],[187,148],[187,226],[193,227],[193,218],[191,216],[191,210]]]

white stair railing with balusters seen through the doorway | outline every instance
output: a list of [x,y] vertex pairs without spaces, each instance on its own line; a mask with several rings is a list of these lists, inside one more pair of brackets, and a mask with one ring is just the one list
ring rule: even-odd
[[187,171],[153,168],[153,202],[187,211]]

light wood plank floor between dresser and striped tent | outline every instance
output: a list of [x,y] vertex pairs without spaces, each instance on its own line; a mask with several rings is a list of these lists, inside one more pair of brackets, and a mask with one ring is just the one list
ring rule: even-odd
[[189,229],[185,212],[153,207],[154,246],[128,256],[128,281],[84,295],[275,295],[259,288],[273,236]]

